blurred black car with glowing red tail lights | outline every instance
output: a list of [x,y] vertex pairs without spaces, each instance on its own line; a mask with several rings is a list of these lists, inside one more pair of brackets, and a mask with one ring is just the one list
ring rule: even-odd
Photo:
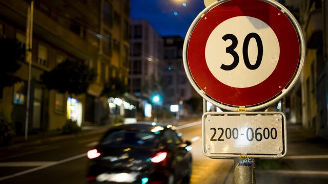
[[191,142],[165,124],[128,124],[111,128],[90,159],[90,183],[189,183]]

